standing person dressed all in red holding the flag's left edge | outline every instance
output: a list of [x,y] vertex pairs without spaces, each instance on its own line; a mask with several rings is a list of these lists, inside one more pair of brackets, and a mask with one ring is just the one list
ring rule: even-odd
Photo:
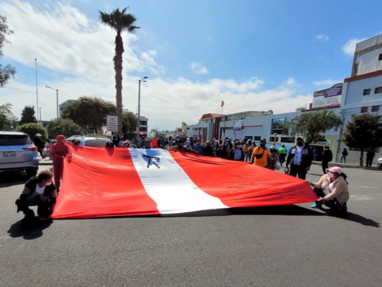
[[57,192],[60,190],[60,178],[64,170],[64,157],[68,156],[68,162],[72,161],[72,151],[68,144],[65,143],[65,136],[58,135],[57,143],[52,145],[52,158],[54,170],[54,184]]

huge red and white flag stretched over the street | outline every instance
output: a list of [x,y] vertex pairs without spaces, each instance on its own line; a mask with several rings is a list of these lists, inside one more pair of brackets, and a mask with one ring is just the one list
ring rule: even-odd
[[53,218],[179,214],[317,199],[305,181],[247,162],[159,148],[71,148]]

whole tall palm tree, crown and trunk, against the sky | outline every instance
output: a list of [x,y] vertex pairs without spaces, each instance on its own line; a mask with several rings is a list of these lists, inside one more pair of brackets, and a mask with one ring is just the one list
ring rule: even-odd
[[134,15],[125,11],[128,7],[125,7],[122,11],[118,8],[113,10],[111,13],[103,13],[99,11],[99,20],[105,26],[113,28],[117,35],[115,36],[115,55],[114,70],[115,70],[115,90],[116,90],[116,106],[117,106],[117,116],[118,116],[118,132],[122,132],[122,54],[123,41],[121,33],[123,31],[128,31],[133,33],[136,29],[140,27],[133,25],[136,21]]

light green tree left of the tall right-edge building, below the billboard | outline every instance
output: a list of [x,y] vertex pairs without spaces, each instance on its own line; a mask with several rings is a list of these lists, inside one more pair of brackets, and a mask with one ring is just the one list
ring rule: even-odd
[[305,142],[313,143],[323,141],[325,137],[322,133],[333,128],[337,130],[341,124],[339,116],[321,109],[315,113],[303,113],[293,118],[287,126],[291,136],[301,135],[305,137]]

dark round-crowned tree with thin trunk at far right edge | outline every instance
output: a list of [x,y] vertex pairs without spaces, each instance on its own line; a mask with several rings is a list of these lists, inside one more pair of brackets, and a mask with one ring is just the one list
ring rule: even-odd
[[364,150],[382,146],[382,116],[371,113],[352,115],[342,133],[342,141],[349,147],[361,149],[360,166],[364,166]]

